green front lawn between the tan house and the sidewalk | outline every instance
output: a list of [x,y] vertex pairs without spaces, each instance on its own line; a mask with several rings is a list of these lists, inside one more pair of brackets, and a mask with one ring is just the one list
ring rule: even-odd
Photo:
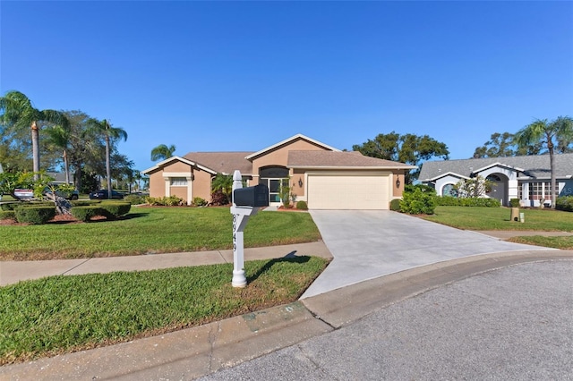
[[[232,248],[228,207],[132,207],[117,221],[0,225],[0,259],[37,260]],[[308,213],[260,212],[244,230],[245,247],[317,241]]]

